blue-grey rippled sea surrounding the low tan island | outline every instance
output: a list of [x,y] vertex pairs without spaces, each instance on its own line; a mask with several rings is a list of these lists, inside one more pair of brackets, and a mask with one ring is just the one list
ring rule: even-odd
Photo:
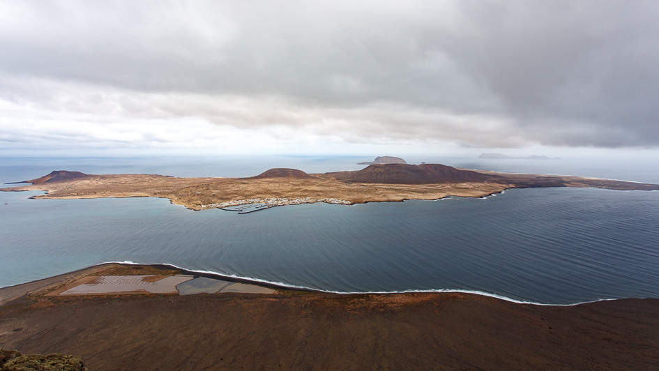
[[[251,176],[361,169],[363,157],[4,158],[0,181],[52,170]],[[659,183],[659,160],[407,159]],[[0,287],[102,262],[166,263],[331,292],[475,291],[567,304],[659,297],[659,192],[507,190],[484,199],[283,206],[238,215],[167,199],[0,192]],[[4,204],[7,202],[7,204]]]

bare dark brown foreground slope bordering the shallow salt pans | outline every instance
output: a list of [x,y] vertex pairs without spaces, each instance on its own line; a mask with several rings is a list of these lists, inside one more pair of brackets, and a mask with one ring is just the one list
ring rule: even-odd
[[[460,293],[61,295],[86,277],[181,277],[103,264],[0,289],[0,347],[93,370],[653,369],[659,299],[532,305]],[[157,282],[158,280],[156,280]]]

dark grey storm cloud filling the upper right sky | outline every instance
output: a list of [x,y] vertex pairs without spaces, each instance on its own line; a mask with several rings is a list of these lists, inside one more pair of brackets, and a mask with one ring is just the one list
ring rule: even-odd
[[[471,4],[474,5],[474,4]],[[546,144],[659,143],[659,3],[507,1],[447,50]]]

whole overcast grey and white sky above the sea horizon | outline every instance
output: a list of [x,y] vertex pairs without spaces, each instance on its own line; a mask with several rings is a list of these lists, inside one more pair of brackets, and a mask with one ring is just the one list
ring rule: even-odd
[[656,0],[0,0],[0,156],[657,149],[658,40]]

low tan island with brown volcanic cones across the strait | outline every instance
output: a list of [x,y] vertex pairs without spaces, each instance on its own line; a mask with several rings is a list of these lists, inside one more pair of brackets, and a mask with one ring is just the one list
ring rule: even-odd
[[[146,174],[89,175],[52,172],[26,181],[32,185],[5,191],[44,190],[35,198],[164,197],[200,210],[249,199],[305,199],[337,203],[439,199],[450,195],[483,197],[508,188],[596,187],[616,190],[658,190],[659,185],[580,176],[503,174],[455,169],[439,164],[370,165],[354,172],[306,174],[296,169],[271,169],[251,178],[176,178]],[[328,201],[325,201],[328,202]],[[245,202],[249,203],[249,202]]]

